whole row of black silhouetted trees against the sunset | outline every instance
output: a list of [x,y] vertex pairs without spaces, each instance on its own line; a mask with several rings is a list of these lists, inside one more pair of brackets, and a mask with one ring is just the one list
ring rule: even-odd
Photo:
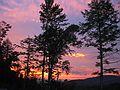
[[[63,13],[63,8],[60,8],[59,4],[54,3],[54,0],[44,0],[39,11],[42,33],[34,37],[29,36],[20,41],[19,45],[12,44],[9,39],[6,39],[11,26],[1,21],[1,85],[2,83],[7,85],[8,81],[11,84],[14,79],[19,80],[19,82],[27,82],[30,77],[34,77],[34,70],[37,70],[42,72],[42,90],[46,87],[53,90],[54,80],[59,80],[59,75],[63,71],[66,74],[70,72],[70,62],[62,60],[62,56],[73,52],[71,46],[77,48],[92,46],[98,50],[96,58],[99,61],[96,62],[96,66],[100,67],[100,70],[93,74],[101,76],[100,86],[102,90],[104,73],[119,74],[117,68],[104,68],[104,65],[119,62],[112,61],[110,56],[119,52],[117,45],[120,38],[118,26],[120,18],[110,0],[92,0],[88,6],[88,10],[82,11],[85,21],[75,25],[69,24],[66,14]],[[17,51],[16,49],[20,50]],[[48,73],[47,86],[44,77],[45,72]],[[25,89],[27,84],[21,84]]]

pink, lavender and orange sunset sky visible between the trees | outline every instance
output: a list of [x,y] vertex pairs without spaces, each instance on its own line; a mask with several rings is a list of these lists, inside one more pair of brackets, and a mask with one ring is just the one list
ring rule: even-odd
[[[119,0],[112,0],[117,7]],[[0,0],[0,21],[4,20],[12,26],[8,32],[8,38],[16,44],[20,40],[41,33],[41,24],[39,22],[40,4],[44,0]],[[88,3],[91,0],[55,0],[60,4],[67,15],[68,21],[73,24],[79,24],[83,21],[81,11],[88,9]],[[71,74],[66,76],[68,79],[81,79],[90,77],[95,67],[97,50],[95,48],[72,48],[76,52],[72,56],[65,56],[63,59],[70,60]],[[79,55],[80,54],[80,55]],[[116,64],[117,66],[119,64]],[[61,78],[65,77],[63,75]]]

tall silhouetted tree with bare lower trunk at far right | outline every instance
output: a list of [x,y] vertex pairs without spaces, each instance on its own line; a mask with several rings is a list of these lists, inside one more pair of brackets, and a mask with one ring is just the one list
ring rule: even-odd
[[108,61],[108,53],[116,50],[116,40],[120,37],[118,11],[113,8],[110,0],[92,0],[88,6],[89,10],[82,12],[85,22],[81,23],[80,34],[83,35],[86,46],[93,46],[98,50],[102,90],[103,64]]

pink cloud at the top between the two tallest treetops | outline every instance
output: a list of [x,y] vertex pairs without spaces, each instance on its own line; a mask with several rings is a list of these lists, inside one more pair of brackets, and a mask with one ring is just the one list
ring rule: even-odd
[[80,12],[87,8],[91,0],[55,0],[64,9],[66,13],[79,15]]

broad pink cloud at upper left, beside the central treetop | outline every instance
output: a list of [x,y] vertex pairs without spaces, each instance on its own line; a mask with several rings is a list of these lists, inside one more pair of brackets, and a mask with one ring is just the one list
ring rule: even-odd
[[[27,3],[26,0],[23,2],[24,4]],[[0,6],[2,9],[6,11],[2,13],[3,18],[7,18],[11,22],[18,22],[18,21],[32,21],[32,19],[39,19],[39,7],[34,3],[31,2],[28,6],[22,6],[14,1],[9,1],[9,4],[12,6],[16,6],[15,8],[7,8],[5,6]],[[24,5],[23,4],[23,5]]]

